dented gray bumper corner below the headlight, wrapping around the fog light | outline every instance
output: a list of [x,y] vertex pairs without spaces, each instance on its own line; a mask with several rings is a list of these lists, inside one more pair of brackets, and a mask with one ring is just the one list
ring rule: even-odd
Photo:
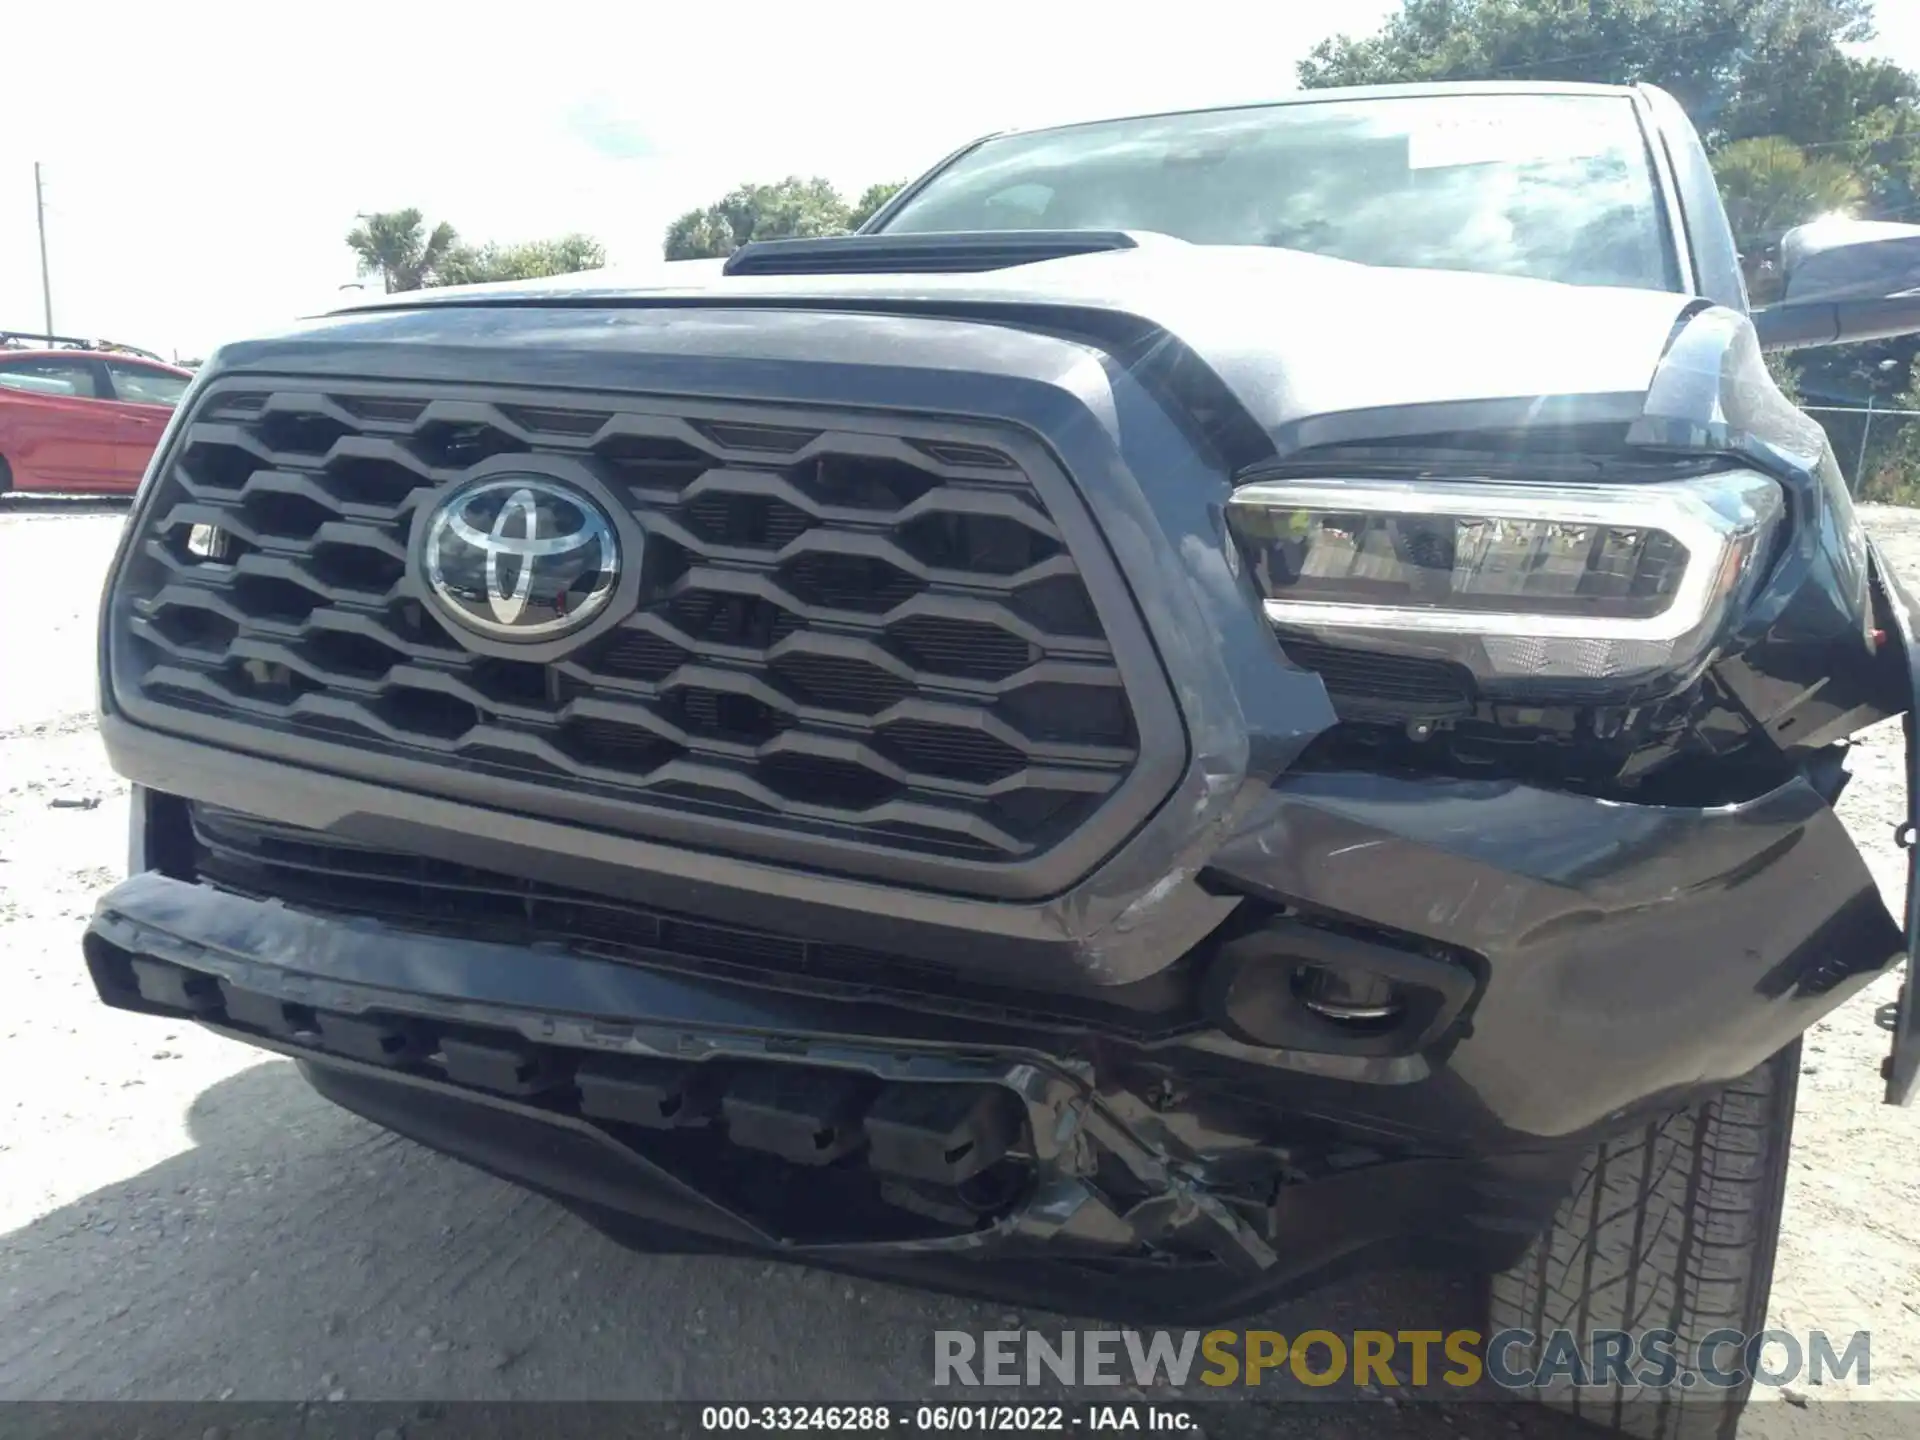
[[1294,1094],[1467,1144],[1574,1135],[1728,1083],[1905,952],[1803,778],[1680,808],[1509,780],[1294,774],[1213,874],[1480,958],[1480,998],[1430,1075],[1302,1079]]

